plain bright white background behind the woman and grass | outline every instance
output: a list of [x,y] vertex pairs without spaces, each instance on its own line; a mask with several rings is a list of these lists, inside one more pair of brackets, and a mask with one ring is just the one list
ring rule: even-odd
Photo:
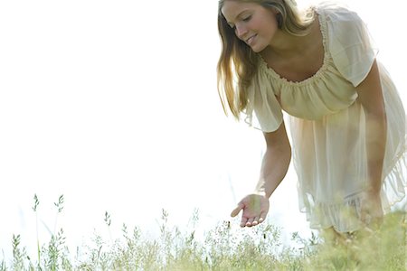
[[[345,2],[369,24],[405,101],[407,5]],[[198,209],[201,232],[230,219],[257,181],[264,143],[222,113],[216,16],[215,0],[0,2],[5,257],[13,234],[33,251],[37,229],[46,242],[63,228],[75,251],[93,232],[108,233],[105,211],[112,238],[123,223],[154,235],[162,209],[181,228]],[[292,168],[271,198],[270,221],[287,240],[310,233]]]

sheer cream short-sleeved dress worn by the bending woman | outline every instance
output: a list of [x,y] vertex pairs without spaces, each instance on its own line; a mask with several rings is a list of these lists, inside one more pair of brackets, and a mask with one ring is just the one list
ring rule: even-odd
[[[260,58],[248,89],[245,121],[272,132],[282,123],[281,110],[289,114],[300,210],[307,213],[312,229],[350,232],[361,228],[360,201],[367,180],[364,109],[355,87],[371,70],[377,51],[355,12],[327,3],[315,10],[325,48],[321,69],[293,82]],[[381,192],[387,213],[405,197],[407,186],[405,112],[388,72],[378,65],[387,116]]]

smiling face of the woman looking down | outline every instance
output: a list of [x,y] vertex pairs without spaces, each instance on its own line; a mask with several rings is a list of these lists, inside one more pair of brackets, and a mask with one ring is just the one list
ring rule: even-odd
[[279,29],[276,12],[256,3],[226,0],[222,6],[222,14],[236,36],[255,52],[270,45]]

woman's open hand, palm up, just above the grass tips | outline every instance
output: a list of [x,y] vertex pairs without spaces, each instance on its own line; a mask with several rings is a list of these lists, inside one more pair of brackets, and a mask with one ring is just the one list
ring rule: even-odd
[[237,216],[241,210],[241,227],[256,226],[266,219],[269,212],[269,199],[258,193],[253,193],[244,197],[239,203],[236,209],[232,210],[232,218]]

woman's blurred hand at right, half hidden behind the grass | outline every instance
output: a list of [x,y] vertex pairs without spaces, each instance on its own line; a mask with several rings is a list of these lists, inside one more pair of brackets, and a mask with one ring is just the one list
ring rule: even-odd
[[383,207],[380,192],[364,192],[361,202],[361,220],[370,229],[378,229],[383,223]]

